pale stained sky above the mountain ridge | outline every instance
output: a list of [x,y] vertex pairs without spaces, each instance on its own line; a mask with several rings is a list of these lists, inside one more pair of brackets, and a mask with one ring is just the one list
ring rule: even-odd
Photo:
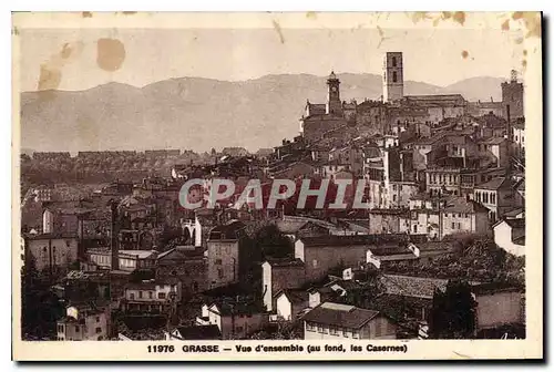
[[[109,82],[144,86],[182,76],[226,81],[267,74],[381,74],[387,51],[403,52],[404,80],[445,86],[521,70],[516,31],[469,29],[25,29],[21,91],[37,91],[41,65],[60,71],[55,87],[85,90]],[[121,41],[117,69],[102,69],[98,40]],[[71,53],[65,53],[64,45]],[[71,54],[71,55],[69,55]],[[64,58],[61,58],[64,55]],[[465,55],[465,58],[464,58]],[[43,85],[42,85],[43,86]],[[51,86],[49,86],[51,87]]]

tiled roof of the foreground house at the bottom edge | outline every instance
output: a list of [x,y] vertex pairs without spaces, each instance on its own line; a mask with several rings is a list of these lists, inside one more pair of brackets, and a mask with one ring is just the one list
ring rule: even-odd
[[359,329],[376,318],[379,311],[360,309],[353,306],[324,302],[312,309],[304,320],[326,326]]

